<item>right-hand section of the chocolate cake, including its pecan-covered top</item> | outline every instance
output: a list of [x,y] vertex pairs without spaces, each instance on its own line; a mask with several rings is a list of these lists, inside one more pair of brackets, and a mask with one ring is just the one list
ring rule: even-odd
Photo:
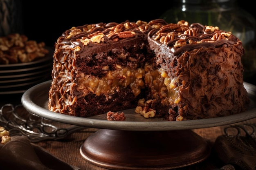
[[242,42],[218,27],[199,23],[164,28],[150,31],[148,42],[157,55],[159,73],[166,75],[168,93],[177,94],[175,98],[159,95],[161,104],[168,103],[171,109],[167,119],[205,119],[245,111],[248,98],[241,74]]

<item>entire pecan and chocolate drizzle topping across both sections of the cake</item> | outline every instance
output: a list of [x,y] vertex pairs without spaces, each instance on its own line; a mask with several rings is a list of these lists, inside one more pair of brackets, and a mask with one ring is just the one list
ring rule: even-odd
[[200,47],[242,44],[238,38],[230,32],[220,30],[218,26],[203,26],[200,23],[189,24],[184,20],[168,24],[163,19],[150,22],[126,20],[122,23],[85,24],[65,31],[58,41],[74,45],[75,51],[80,51],[83,46],[93,46],[89,45],[90,43],[97,45],[108,43],[108,41],[118,42],[122,39],[146,37],[146,35],[156,42],[169,46],[175,55]]

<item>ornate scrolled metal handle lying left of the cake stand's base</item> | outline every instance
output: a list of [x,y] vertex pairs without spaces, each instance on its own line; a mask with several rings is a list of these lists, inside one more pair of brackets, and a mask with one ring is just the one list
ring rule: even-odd
[[47,119],[31,114],[22,105],[5,104],[0,109],[0,126],[9,130],[11,136],[25,135],[31,142],[63,139],[73,132],[87,127],[59,128],[47,123]]

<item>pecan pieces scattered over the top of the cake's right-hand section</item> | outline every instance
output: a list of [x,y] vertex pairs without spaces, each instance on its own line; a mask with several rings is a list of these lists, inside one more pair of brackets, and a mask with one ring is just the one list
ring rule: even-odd
[[225,32],[218,26],[203,26],[199,23],[189,25],[188,22],[181,20],[162,26],[160,29],[153,29],[148,36],[155,41],[179,48],[186,44],[199,44],[202,42],[216,42],[218,40],[229,40],[229,44],[234,44],[239,40],[231,36],[231,32]]

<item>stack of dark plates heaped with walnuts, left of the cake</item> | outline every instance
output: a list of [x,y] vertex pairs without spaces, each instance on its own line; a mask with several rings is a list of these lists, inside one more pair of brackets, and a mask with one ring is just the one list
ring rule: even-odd
[[24,93],[51,79],[53,51],[26,35],[0,37],[0,94]]

